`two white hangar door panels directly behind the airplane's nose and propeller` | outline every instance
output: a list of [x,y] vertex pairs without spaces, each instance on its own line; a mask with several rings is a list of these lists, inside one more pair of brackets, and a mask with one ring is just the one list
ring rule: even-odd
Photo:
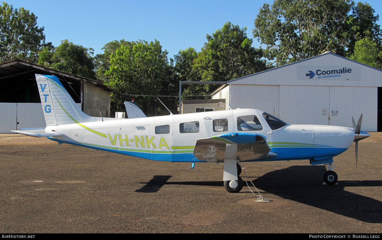
[[377,88],[280,86],[280,118],[290,124],[353,127],[363,113],[362,130],[377,131]]

